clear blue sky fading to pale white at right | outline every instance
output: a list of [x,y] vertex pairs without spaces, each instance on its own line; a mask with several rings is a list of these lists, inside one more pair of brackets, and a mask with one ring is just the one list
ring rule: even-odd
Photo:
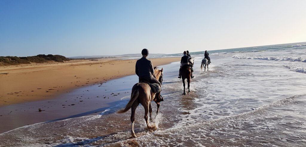
[[306,41],[305,0],[0,0],[0,56],[180,53]]

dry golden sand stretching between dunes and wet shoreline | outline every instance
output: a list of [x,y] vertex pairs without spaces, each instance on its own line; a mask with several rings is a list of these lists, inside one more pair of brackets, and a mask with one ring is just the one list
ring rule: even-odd
[[[180,58],[153,58],[153,66]],[[0,106],[50,99],[78,86],[135,74],[136,60],[71,60],[0,67]],[[8,74],[2,74],[8,73]]]

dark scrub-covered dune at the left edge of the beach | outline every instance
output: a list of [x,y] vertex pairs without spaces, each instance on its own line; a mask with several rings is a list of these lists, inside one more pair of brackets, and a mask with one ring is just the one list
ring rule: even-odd
[[69,60],[70,60],[69,58],[66,58],[65,56],[61,55],[36,55],[28,57],[0,56],[0,66],[31,64],[31,62],[34,63],[43,63],[48,61],[64,62]]

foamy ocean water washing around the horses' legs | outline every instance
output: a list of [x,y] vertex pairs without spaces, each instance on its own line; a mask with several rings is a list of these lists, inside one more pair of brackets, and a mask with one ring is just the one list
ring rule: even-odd
[[[179,62],[159,67],[164,101],[151,122],[157,130],[146,129],[139,105],[137,138],[130,138],[130,111],[116,113],[129,101],[124,95],[98,115],[2,133],[0,146],[306,146],[306,43],[208,52],[206,72],[203,52],[191,53],[195,78],[185,96]],[[181,55],[164,57],[171,56]],[[131,78],[116,79],[127,87],[121,93],[130,91]]]

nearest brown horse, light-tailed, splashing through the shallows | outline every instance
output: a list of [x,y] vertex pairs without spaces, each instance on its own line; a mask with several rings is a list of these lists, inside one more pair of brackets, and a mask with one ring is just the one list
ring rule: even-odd
[[[159,80],[159,82],[162,83],[162,70],[157,69],[154,67],[154,73],[156,79]],[[151,107],[151,101],[155,101],[157,104],[157,111],[156,113],[159,113],[159,102],[163,101],[162,96],[160,96],[159,93],[153,93],[151,90],[151,87],[147,83],[137,83],[133,86],[132,88],[132,93],[131,93],[131,99],[129,100],[129,103],[126,104],[124,109],[121,109],[118,111],[118,113],[124,113],[128,111],[131,108],[132,114],[131,114],[131,123],[132,123],[132,137],[136,137],[135,132],[134,132],[134,121],[135,121],[135,112],[136,108],[139,105],[139,103],[144,106],[144,119],[146,120],[147,123],[147,128],[148,129],[153,129],[154,127],[149,125],[148,122],[148,112],[150,112],[150,119],[151,119],[151,113],[152,113],[152,107]]]

